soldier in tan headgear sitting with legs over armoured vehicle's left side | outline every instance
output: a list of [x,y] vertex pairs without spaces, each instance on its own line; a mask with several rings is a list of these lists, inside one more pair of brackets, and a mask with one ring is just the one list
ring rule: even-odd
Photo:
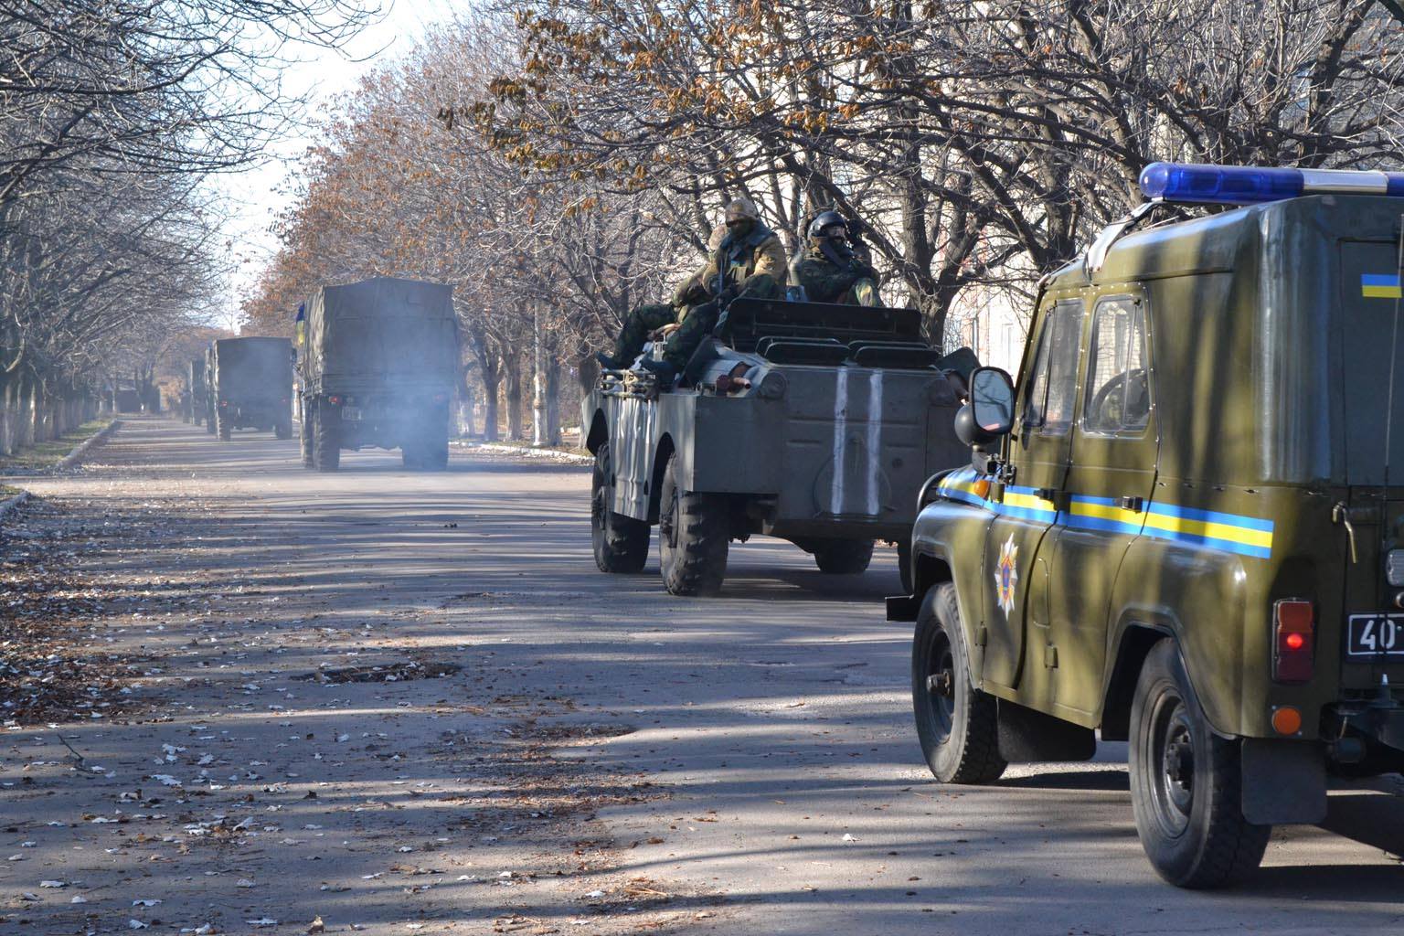
[[761,223],[755,203],[748,198],[733,199],[726,206],[726,236],[712,251],[702,269],[692,274],[673,295],[671,306],[642,306],[629,313],[614,356],[597,358],[607,368],[628,366],[643,349],[643,338],[653,330],[668,331],[661,361],[646,359],[640,366],[671,382],[687,366],[692,352],[716,327],[722,309],[739,296],[772,299],[779,295],[785,271],[785,247],[779,237]]

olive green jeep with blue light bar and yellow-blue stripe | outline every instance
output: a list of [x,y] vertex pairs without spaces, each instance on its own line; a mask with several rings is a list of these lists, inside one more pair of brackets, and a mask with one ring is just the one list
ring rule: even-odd
[[[1151,864],[1214,887],[1328,773],[1404,765],[1404,175],[1141,185],[1045,279],[1018,385],[973,373],[889,616],[939,780],[1129,741]],[[1132,233],[1175,201],[1244,206]]]

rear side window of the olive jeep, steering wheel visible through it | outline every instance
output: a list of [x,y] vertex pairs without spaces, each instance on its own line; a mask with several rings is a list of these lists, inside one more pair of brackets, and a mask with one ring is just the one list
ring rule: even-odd
[[1084,399],[1088,432],[1139,435],[1150,424],[1146,313],[1129,296],[1097,303]]

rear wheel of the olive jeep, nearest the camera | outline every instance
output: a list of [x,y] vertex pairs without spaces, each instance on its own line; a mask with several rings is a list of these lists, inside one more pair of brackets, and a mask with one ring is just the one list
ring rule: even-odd
[[1243,818],[1240,747],[1216,735],[1174,641],[1146,657],[1132,699],[1136,831],[1151,866],[1179,887],[1223,887],[1258,867],[1271,825]]

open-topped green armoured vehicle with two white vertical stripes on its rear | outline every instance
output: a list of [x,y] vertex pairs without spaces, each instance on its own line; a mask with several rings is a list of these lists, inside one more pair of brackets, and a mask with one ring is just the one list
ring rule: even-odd
[[755,533],[835,574],[866,570],[876,540],[906,543],[921,483],[967,457],[949,428],[962,380],[943,365],[969,351],[943,359],[913,309],[740,299],[722,333],[678,386],[588,376],[600,570],[640,571],[654,525],[674,595],[715,595],[730,542]]

